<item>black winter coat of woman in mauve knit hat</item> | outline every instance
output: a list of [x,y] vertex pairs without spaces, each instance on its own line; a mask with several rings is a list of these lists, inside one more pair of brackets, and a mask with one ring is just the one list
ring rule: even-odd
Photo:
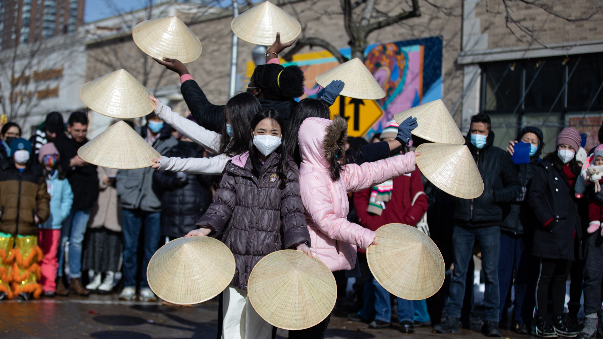
[[[567,177],[555,170],[549,159],[536,168],[528,194],[529,206],[537,219],[532,255],[548,259],[581,259],[581,249],[574,249],[582,235],[578,198]],[[553,219],[546,227],[546,221]]]

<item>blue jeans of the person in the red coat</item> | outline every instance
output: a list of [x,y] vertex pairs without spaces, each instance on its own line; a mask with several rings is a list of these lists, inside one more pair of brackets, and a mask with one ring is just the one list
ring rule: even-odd
[[[368,289],[367,289],[368,285]],[[368,292],[368,293],[367,293]],[[390,293],[383,288],[374,277],[364,285],[364,306],[358,314],[367,321],[381,320],[391,323]],[[414,306],[412,300],[398,298],[398,322],[407,320],[414,323]]]

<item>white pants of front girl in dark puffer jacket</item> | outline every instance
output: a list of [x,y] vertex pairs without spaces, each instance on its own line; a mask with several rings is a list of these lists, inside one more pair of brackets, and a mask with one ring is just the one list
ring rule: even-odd
[[229,285],[223,292],[222,339],[270,339],[272,325],[257,314],[247,291]]

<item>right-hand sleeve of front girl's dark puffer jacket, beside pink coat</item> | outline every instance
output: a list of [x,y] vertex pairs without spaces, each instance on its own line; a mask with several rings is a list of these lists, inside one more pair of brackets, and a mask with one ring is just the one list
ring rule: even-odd
[[281,230],[285,249],[292,249],[303,243],[310,247],[310,233],[300,197],[299,170],[292,160],[289,161],[285,188],[282,190],[280,199]]

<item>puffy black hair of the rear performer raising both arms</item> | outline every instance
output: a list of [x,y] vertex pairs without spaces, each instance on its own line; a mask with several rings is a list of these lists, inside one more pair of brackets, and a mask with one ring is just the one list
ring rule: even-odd
[[251,77],[256,87],[264,93],[265,100],[292,100],[301,97],[304,93],[305,77],[297,65],[287,67],[276,63],[257,65]]

